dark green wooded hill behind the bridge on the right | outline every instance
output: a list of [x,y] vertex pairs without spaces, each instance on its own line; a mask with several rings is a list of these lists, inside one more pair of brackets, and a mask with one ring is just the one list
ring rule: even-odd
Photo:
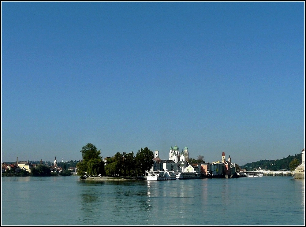
[[289,163],[296,158],[300,163],[302,162],[302,153],[289,155],[287,158],[277,159],[277,160],[260,160],[257,162],[250,162],[245,165],[240,166],[241,169],[246,169],[251,171],[252,169],[290,169]]

